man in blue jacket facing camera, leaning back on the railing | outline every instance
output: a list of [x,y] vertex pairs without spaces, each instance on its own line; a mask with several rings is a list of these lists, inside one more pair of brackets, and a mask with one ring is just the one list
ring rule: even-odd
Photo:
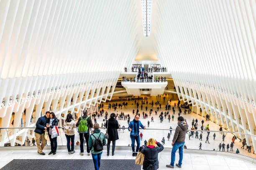
[[[130,122],[128,130],[131,132],[130,133],[130,138],[131,138],[131,147],[133,150],[133,156],[137,156],[138,150],[140,148],[140,134],[139,134],[139,128],[143,128],[146,129],[145,126],[143,126],[141,124],[141,121],[139,121],[139,115],[135,115],[133,121]],[[137,143],[137,147],[136,147],[136,152],[135,152],[135,148],[134,148],[134,143]]]

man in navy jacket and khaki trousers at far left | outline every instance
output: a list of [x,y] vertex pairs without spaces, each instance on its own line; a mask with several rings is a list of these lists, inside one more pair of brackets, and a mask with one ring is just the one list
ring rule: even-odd
[[[43,153],[43,149],[47,141],[44,138],[44,132],[48,128],[47,127],[48,125],[46,125],[46,123],[49,123],[49,117],[50,117],[49,111],[47,111],[43,117],[39,117],[36,122],[36,129],[34,130],[35,137],[36,137],[37,152],[40,155],[45,155],[45,153]],[[42,141],[41,145],[40,145],[40,140]]]

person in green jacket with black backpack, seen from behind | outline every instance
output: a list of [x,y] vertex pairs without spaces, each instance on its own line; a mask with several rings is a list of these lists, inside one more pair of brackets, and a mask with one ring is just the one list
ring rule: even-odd
[[100,125],[95,123],[93,125],[93,133],[89,138],[89,148],[92,151],[92,160],[95,170],[100,169],[100,158],[103,150],[103,146],[106,145],[106,138],[103,133],[100,132]]

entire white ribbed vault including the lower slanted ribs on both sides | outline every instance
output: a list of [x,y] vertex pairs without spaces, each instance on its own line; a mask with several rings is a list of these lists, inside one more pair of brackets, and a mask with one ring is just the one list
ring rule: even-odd
[[[12,112],[31,107],[32,114],[32,107],[42,108],[44,102],[47,110],[51,100],[71,99],[78,92],[84,92],[85,100],[66,110],[62,106],[59,117],[81,105],[88,108],[110,100],[110,86],[115,87],[123,67],[130,67],[141,50],[152,51],[168,68],[176,89],[181,89],[180,98],[209,107],[211,113],[218,110],[210,102],[222,105],[236,118],[220,114],[222,122],[237,125],[228,128],[247,132],[247,124],[254,134],[256,1],[150,0],[148,50],[143,45],[142,14],[147,14],[142,13],[141,2],[0,0],[2,122],[10,122]],[[88,90],[96,95],[90,98]]]

